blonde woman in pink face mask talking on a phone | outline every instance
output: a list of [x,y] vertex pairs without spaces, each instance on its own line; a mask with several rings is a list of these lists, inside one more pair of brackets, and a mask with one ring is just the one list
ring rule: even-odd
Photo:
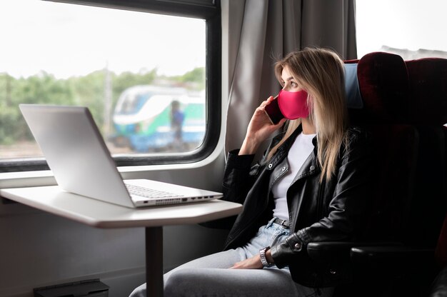
[[[225,251],[166,273],[165,296],[331,296],[346,281],[343,263],[321,267],[306,251],[309,242],[356,238],[370,192],[368,137],[348,127],[343,61],[327,49],[304,49],[278,61],[275,71],[288,119],[271,123],[269,97],[241,148],[228,153],[224,199],[244,207]],[[251,166],[283,124],[285,132]],[[131,296],[144,293],[141,286]]]

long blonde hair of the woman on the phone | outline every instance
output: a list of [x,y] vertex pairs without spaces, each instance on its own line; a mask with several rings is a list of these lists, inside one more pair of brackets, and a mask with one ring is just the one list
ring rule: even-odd
[[[316,127],[317,160],[322,171],[320,182],[323,178],[329,180],[335,173],[342,144],[348,144],[343,61],[338,54],[328,49],[306,48],[293,51],[275,64],[276,78],[280,83],[286,66],[293,79],[309,95],[309,119]],[[273,156],[300,124],[301,119],[288,121],[283,139],[271,148],[268,158]]]

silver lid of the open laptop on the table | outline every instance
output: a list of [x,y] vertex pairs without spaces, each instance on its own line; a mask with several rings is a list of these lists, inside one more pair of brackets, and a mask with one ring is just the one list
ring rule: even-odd
[[134,207],[89,109],[39,104],[19,107],[61,188]]

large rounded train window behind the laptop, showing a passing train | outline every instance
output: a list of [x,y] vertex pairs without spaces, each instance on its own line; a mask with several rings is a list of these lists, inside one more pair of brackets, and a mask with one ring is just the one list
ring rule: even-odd
[[47,168],[21,103],[88,106],[119,166],[204,158],[220,125],[215,1],[71,2],[0,2],[0,171]]

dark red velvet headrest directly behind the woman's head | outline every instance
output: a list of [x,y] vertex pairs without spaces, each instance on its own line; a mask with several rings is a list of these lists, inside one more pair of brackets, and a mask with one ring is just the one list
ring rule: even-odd
[[364,124],[408,122],[408,74],[401,56],[384,52],[366,54],[358,61],[358,84],[363,99]]

